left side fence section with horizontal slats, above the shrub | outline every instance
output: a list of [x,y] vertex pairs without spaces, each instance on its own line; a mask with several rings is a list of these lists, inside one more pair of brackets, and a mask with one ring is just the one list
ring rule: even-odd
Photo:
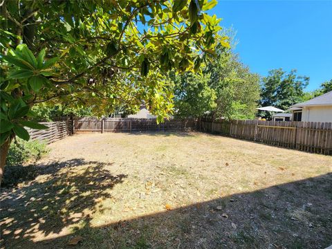
[[63,120],[55,122],[40,123],[48,126],[48,129],[35,130],[27,128],[31,139],[43,140],[50,144],[51,142],[73,134],[73,120],[70,118],[64,118]]

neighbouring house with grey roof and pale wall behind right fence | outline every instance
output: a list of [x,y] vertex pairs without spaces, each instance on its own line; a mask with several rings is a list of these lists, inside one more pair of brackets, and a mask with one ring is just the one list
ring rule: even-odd
[[294,104],[289,110],[293,111],[293,121],[332,122],[332,91]]

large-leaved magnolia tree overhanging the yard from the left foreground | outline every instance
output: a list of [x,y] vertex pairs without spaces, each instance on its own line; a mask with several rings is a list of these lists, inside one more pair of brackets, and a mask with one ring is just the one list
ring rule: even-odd
[[145,103],[172,113],[167,71],[199,71],[214,56],[215,0],[1,1],[1,172],[10,142],[29,139],[33,105],[89,107],[95,116]]

